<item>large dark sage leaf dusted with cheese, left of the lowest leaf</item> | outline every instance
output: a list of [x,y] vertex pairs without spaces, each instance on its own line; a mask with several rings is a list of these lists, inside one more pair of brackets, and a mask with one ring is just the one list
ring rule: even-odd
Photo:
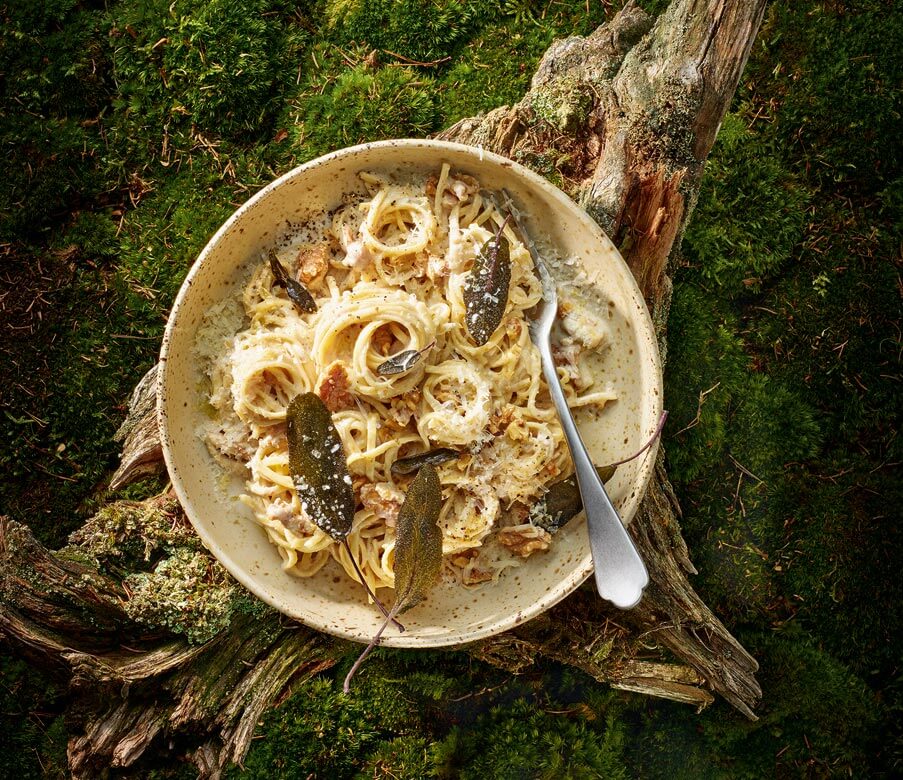
[[332,415],[316,393],[301,393],[288,405],[286,421],[289,468],[301,507],[341,541],[354,521],[354,491]]

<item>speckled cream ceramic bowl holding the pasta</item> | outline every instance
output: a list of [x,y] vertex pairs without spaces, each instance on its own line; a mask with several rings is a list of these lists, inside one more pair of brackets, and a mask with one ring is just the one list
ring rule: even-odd
[[[160,355],[158,417],[173,486],[208,549],[248,590],[313,628],[367,641],[382,616],[360,585],[335,564],[309,579],[282,570],[280,557],[250,510],[237,500],[242,480],[226,478],[195,429],[204,415],[203,367],[194,344],[204,313],[238,292],[242,269],[292,226],[337,206],[359,190],[360,171],[438,172],[443,162],[471,174],[484,188],[506,188],[531,235],[545,236],[560,257],[582,266],[607,301],[612,343],[598,356],[597,373],[618,400],[592,417],[578,416],[598,464],[639,448],[661,412],[662,378],[652,323],[633,276],[598,225],[560,190],[522,166],[481,149],[439,141],[396,140],[342,149],[295,168],[258,192],[210,239],[192,266],[169,317]],[[621,466],[609,493],[629,522],[651,476],[654,450]],[[476,589],[439,584],[405,613],[405,633],[390,628],[383,644],[438,647],[497,634],[538,615],[592,572],[583,516],[556,535],[551,549]],[[391,600],[388,591],[382,591]]]

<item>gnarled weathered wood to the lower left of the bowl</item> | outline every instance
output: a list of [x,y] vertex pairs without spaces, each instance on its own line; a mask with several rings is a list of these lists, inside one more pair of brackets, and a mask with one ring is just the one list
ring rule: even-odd
[[148,630],[123,609],[123,584],[75,553],[0,517],[0,633],[70,680],[76,778],[128,767],[151,743],[166,750],[161,734],[181,735],[216,777],[244,757],[267,707],[348,651],[266,608],[200,645]]

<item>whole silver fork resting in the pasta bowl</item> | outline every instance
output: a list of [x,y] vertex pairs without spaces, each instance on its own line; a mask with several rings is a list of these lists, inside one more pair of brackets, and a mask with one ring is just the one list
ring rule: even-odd
[[507,192],[503,191],[506,210],[511,214],[518,232],[523,238],[533,265],[542,282],[542,302],[530,321],[530,338],[539,350],[542,359],[542,373],[549,386],[549,393],[561,420],[564,438],[571,451],[577,485],[586,510],[586,527],[589,531],[589,545],[593,553],[596,574],[596,588],[602,598],[616,607],[635,607],[643,595],[643,588],[649,584],[649,574],[643,559],[621,522],[617,510],[611,503],[605,486],[586,451],[586,445],[577,430],[577,424],[568,407],[564,391],[558,381],[558,372],[552,360],[552,324],[558,313],[558,289],[549,274],[546,264],[539,255],[533,241],[517,224],[515,209]]

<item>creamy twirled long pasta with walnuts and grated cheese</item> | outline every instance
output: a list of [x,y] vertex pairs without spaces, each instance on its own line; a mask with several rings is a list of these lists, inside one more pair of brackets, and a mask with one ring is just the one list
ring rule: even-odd
[[[529,509],[572,470],[527,329],[540,282],[521,237],[505,226],[508,302],[477,346],[463,290],[504,215],[476,180],[447,165],[420,180],[361,179],[365,193],[276,249],[316,311],[299,311],[262,260],[242,292],[238,332],[222,333],[222,311],[208,315],[198,352],[208,361],[212,414],[201,435],[216,457],[245,470],[241,499],[288,571],[312,576],[334,560],[356,580],[349,551],[303,511],[289,469],[286,407],[299,393],[320,395],[354,488],[350,555],[373,589],[394,584],[395,521],[413,478],[393,474],[392,464],[437,447],[458,451],[438,466],[444,571],[468,585],[488,581],[548,548]],[[576,324],[568,331],[565,318],[556,352],[562,385],[574,406],[604,405],[613,394],[594,387],[580,358],[604,346],[605,324],[573,306],[568,316]],[[380,373],[412,350],[421,357],[408,370]]]

